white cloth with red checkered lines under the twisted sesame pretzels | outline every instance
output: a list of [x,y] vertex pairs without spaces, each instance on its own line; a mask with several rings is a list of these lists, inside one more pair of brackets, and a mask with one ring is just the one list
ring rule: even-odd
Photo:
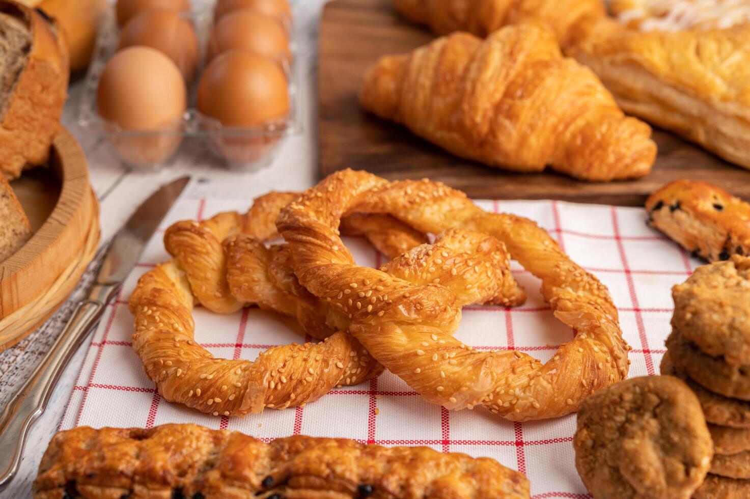
[[[658,374],[664,339],[670,330],[670,287],[690,275],[698,260],[646,227],[643,209],[579,205],[554,201],[478,201],[487,210],[523,215],[555,237],[570,257],[607,285],[619,308],[628,343],[631,376]],[[163,228],[184,218],[203,218],[229,209],[244,211],[248,201],[182,197]],[[425,445],[443,452],[495,458],[526,473],[532,497],[589,497],[574,467],[571,445],[575,416],[513,423],[488,410],[451,412],[423,401],[389,372],[368,383],[334,389],[306,407],[265,410],[245,417],[214,417],[163,401],[145,377],[130,343],[133,316],[127,297],[139,275],[167,259],[157,233],[141,263],[110,304],[92,339],[61,428],[77,425],[145,427],[194,422],[271,440],[290,434],[347,437],[386,446]],[[360,239],[347,241],[360,265],[382,258]],[[518,308],[464,308],[456,336],[479,350],[511,348],[546,362],[572,333],[555,320],[538,293],[539,282],[514,263],[529,299]],[[257,308],[220,315],[197,308],[196,340],[215,356],[254,359],[272,345],[302,341],[296,322]],[[379,411],[376,411],[378,409]]]

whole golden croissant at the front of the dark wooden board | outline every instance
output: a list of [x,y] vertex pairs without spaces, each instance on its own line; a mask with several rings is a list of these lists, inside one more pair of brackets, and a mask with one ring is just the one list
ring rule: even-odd
[[365,74],[360,102],[455,155],[506,170],[549,164],[582,180],[631,179],[647,175],[656,154],[649,126],[625,117],[539,26],[508,26],[485,41],[456,33],[383,57]]

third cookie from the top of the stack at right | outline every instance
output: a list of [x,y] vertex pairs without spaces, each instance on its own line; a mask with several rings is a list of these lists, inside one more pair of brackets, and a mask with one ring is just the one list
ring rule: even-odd
[[750,428],[750,402],[727,398],[703,388],[674,366],[669,352],[661,358],[661,374],[679,377],[688,384],[700,401],[706,421],[730,428]]

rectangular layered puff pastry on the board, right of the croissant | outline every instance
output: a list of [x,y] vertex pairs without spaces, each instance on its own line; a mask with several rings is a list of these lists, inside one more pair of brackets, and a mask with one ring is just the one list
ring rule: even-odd
[[568,54],[598,74],[625,113],[750,168],[750,24],[681,32],[592,24]]

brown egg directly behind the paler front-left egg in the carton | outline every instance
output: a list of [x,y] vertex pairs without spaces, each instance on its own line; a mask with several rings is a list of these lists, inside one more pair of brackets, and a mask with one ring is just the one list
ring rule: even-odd
[[198,39],[193,24],[179,12],[164,9],[141,11],[131,17],[120,34],[117,49],[145,45],[175,62],[188,82],[198,66]]

